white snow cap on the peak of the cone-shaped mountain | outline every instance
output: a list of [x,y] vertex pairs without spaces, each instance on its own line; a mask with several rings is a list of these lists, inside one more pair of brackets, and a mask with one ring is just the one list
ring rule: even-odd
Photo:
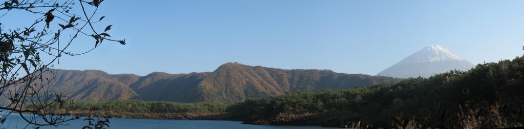
[[[414,62],[465,61],[455,53],[439,45],[429,45],[406,57],[397,64]],[[397,65],[395,64],[395,65]]]

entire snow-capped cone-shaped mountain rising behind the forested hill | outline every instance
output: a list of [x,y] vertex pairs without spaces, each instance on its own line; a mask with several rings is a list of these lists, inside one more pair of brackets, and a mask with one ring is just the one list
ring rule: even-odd
[[468,70],[473,67],[473,63],[455,55],[450,50],[442,46],[430,45],[379,72],[377,76],[427,78],[450,70]]

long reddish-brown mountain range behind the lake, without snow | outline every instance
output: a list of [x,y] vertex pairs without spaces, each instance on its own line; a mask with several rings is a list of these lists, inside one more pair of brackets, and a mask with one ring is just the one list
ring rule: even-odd
[[[99,70],[52,70],[50,91],[71,92],[68,100],[137,99],[173,102],[239,102],[286,92],[366,87],[400,79],[331,70],[285,70],[228,62],[213,72],[147,76],[108,74]],[[49,73],[48,73],[49,74]],[[50,74],[48,75],[50,76]]]

